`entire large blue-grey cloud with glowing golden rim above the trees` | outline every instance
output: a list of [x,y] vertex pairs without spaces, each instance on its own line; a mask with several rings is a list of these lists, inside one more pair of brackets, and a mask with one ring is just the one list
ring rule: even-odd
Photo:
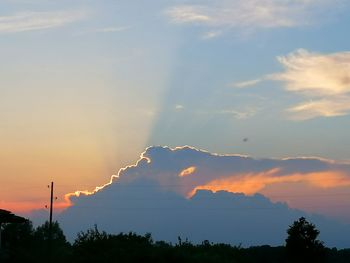
[[[288,225],[307,216],[328,245],[350,245],[349,225],[259,194],[273,186],[283,192],[286,183],[311,187],[314,194],[344,191],[350,188],[350,165],[320,158],[219,155],[188,146],[149,147],[136,164],[121,169],[106,185],[67,195],[71,206],[59,220],[67,233],[98,224],[110,232],[152,232],[155,239],[172,242],[182,236],[194,242],[281,245]],[[336,206],[339,198],[326,206]],[[342,210],[349,211],[348,198],[344,200]]]

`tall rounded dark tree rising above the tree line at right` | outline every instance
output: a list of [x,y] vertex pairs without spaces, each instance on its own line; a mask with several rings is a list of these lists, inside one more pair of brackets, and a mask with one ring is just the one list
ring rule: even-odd
[[304,217],[288,228],[286,250],[291,262],[325,262],[326,250],[317,237],[320,231]]

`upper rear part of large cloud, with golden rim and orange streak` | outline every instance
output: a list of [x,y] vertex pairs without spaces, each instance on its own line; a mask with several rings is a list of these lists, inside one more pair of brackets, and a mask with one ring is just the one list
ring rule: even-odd
[[[189,156],[194,157],[194,159],[187,156],[185,161],[178,163],[175,156],[181,157],[181,154],[185,154],[185,152],[186,156],[190,154]],[[206,161],[200,161],[201,159],[198,159],[199,156],[205,158]],[[209,157],[215,161],[208,163],[207,158]],[[228,158],[231,158],[231,162],[236,163],[238,166],[229,164],[229,166],[225,167],[228,163],[225,165],[221,164],[220,160],[227,162]],[[173,160],[176,165],[169,162],[169,167],[164,167],[164,160],[167,162]],[[180,158],[180,160],[182,159]],[[273,165],[269,165],[271,166],[270,169],[256,171],[255,166],[261,162],[266,164],[272,162]],[[187,166],[184,165],[185,163],[187,163]],[[293,166],[289,166],[291,163],[294,163]],[[288,166],[286,166],[287,164]],[[306,164],[307,166],[312,164],[312,170],[310,168],[300,170],[301,165],[305,166]],[[243,171],[239,170],[241,169],[239,168],[240,165],[245,167]],[[347,166],[346,164],[343,165]],[[222,168],[211,170],[212,166]],[[178,167],[187,168],[182,168],[179,172]],[[148,147],[141,154],[136,164],[120,169],[118,175],[112,176],[107,184],[96,187],[92,191],[85,190],[69,193],[66,195],[65,200],[69,205],[72,205],[72,197],[94,195],[112,183],[130,184],[138,178],[155,180],[163,190],[174,191],[187,197],[193,196],[197,190],[211,190],[214,192],[225,190],[251,195],[261,192],[268,185],[277,183],[306,183],[319,189],[350,186],[350,178],[347,171],[349,168],[342,170],[344,168],[339,169],[339,167],[341,167],[341,164],[334,161],[315,157],[257,160],[236,154],[213,154],[189,146],[176,148]],[[195,173],[196,176],[191,176]]]

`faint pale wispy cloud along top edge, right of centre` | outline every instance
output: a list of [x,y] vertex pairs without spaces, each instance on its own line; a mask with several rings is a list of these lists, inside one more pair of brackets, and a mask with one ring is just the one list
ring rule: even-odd
[[258,29],[295,27],[313,23],[317,16],[338,8],[331,0],[219,0],[178,5],[166,10],[172,22],[214,28]]

